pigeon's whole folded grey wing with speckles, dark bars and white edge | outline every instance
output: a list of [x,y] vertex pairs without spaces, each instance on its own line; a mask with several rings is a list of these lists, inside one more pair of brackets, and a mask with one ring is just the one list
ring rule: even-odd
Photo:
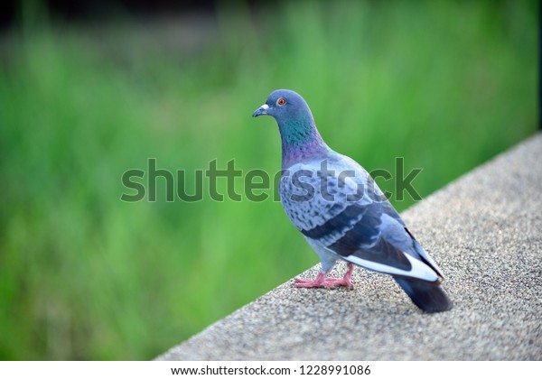
[[311,245],[381,273],[429,282],[441,275],[367,171],[350,158],[337,154],[325,166],[295,164],[283,175],[279,193]]

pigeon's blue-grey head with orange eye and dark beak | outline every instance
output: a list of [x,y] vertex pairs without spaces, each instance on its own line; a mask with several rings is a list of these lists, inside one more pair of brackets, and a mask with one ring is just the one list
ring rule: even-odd
[[279,125],[291,121],[313,122],[313,115],[304,98],[289,89],[273,91],[266,103],[252,114],[253,117],[263,115],[274,117]]

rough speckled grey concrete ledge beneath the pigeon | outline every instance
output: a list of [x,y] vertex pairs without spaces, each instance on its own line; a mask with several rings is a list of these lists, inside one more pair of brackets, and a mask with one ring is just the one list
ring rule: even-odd
[[542,134],[403,217],[453,310],[421,313],[391,278],[358,268],[353,291],[286,282],[157,359],[542,359]]

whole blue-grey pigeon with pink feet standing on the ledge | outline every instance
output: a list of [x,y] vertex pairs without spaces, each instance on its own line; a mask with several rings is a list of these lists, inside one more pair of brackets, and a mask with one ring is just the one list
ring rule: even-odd
[[[252,116],[276,120],[282,143],[280,200],[287,217],[320,257],[318,276],[295,278],[295,287],[352,289],[357,265],[391,275],[420,310],[453,308],[442,289],[441,269],[368,171],[323,141],[303,97],[277,89]],[[329,273],[340,260],[347,262],[346,273],[332,278]]]

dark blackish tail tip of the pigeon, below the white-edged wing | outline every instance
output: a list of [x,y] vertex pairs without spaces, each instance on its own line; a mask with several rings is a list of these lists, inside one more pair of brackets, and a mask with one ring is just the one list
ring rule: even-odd
[[453,302],[448,299],[438,282],[425,282],[405,277],[394,277],[394,279],[420,310],[435,313],[453,308]]

